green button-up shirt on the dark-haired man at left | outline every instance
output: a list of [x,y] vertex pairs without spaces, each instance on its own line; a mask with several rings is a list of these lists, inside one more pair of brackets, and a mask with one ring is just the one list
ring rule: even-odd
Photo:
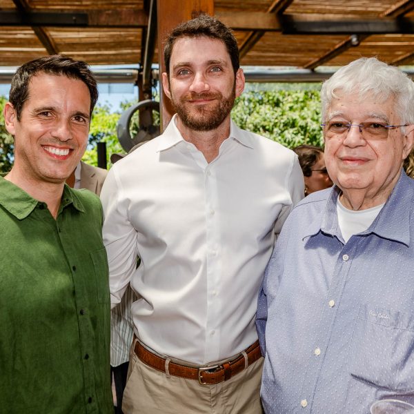
[[99,198],[65,186],[57,219],[0,177],[0,413],[112,413]]

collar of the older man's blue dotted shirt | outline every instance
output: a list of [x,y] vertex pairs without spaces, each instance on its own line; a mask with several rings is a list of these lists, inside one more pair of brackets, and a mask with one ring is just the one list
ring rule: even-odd
[[[375,233],[384,238],[410,245],[410,213],[414,203],[414,181],[407,177],[402,170],[397,184],[388,197],[384,207],[377,215],[373,224],[360,233],[368,235]],[[305,237],[313,236],[322,231],[327,235],[339,237],[338,219],[336,211],[337,197],[341,190],[337,186],[331,188],[321,219],[315,219],[309,224]]]

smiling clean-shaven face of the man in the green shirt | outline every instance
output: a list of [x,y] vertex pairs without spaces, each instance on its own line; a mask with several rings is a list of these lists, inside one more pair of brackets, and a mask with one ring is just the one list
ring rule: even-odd
[[6,128],[14,136],[18,181],[62,183],[88,143],[90,93],[78,79],[39,73],[30,79],[20,120],[6,104]]

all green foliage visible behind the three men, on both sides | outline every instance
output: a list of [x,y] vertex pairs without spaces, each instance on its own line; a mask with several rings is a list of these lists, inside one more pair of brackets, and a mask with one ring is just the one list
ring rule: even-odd
[[[136,101],[121,103],[119,112],[111,112],[108,105],[95,108],[90,124],[88,149],[83,161],[97,165],[97,142],[106,142],[108,167],[109,157],[114,152],[125,152],[117,139],[117,123],[121,112]],[[0,97],[0,110],[6,103]],[[137,114],[132,117],[131,136],[137,132]],[[155,124],[159,117],[155,115]],[[320,124],[319,90],[317,88],[289,90],[257,90],[248,88],[239,97],[232,111],[235,123],[246,130],[257,132],[270,139],[280,142],[288,148],[300,144],[322,145],[322,129]],[[12,137],[6,132],[3,118],[0,122],[0,172],[7,172],[12,166]]]

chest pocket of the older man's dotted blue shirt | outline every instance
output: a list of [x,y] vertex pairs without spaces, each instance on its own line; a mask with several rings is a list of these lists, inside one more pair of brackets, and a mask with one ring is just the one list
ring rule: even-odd
[[414,392],[414,316],[362,305],[348,371],[357,380],[397,393]]

